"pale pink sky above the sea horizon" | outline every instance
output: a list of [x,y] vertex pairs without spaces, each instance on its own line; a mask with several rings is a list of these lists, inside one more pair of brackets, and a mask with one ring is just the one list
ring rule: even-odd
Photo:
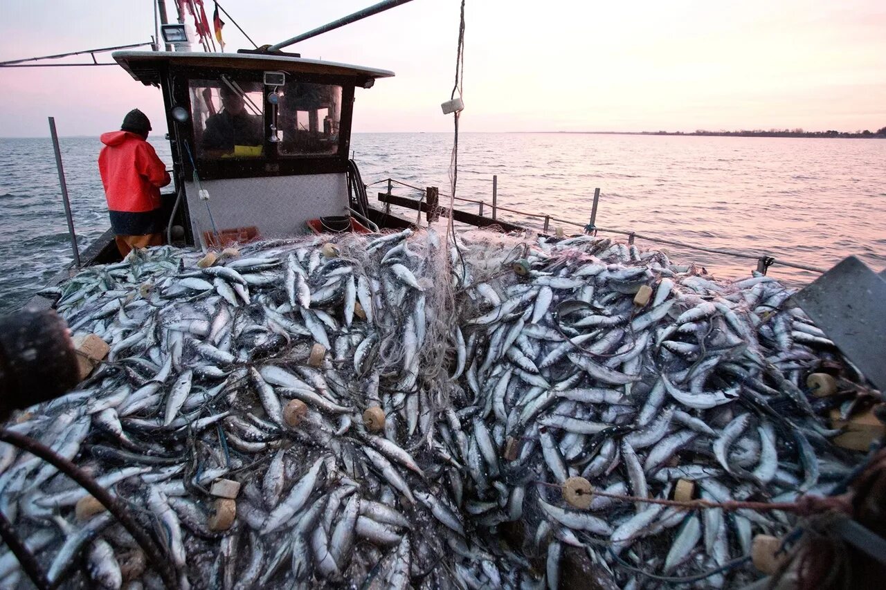
[[[222,5],[276,43],[375,1]],[[4,0],[0,60],[148,41],[153,4]],[[459,4],[414,0],[291,50],[397,74],[358,91],[355,131],[449,131]],[[462,130],[886,126],[883,0],[622,4],[468,0]],[[224,35],[251,46],[230,22]],[[61,135],[97,135],[136,106],[164,130],[159,90],[117,67],[4,68],[0,90],[0,136],[48,135],[50,115]]]

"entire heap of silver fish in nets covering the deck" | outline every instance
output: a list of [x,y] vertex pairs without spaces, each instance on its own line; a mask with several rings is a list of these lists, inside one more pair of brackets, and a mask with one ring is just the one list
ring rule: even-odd
[[[637,571],[722,569],[792,520],[602,496],[579,510],[563,481],[666,498],[683,478],[714,501],[789,501],[828,493],[854,460],[802,389],[835,349],[767,277],[488,232],[200,256],[134,251],[45,291],[111,349],[12,425],[127,502],[183,587],[556,588],[567,558],[656,586]],[[240,483],[221,529],[220,479]],[[111,516],[77,517],[86,495],[0,448],[0,510],[51,580],[160,587]],[[0,586],[17,585],[6,553]]]

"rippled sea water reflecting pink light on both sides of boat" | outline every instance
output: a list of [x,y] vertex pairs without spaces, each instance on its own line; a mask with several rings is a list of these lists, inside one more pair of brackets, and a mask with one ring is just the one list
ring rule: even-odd
[[[364,182],[392,177],[448,193],[452,139],[354,134],[352,150]],[[153,138],[152,144],[170,164],[168,144]],[[61,146],[83,248],[108,227],[96,165],[101,144],[97,137],[73,137]],[[0,139],[0,148],[0,311],[10,311],[71,253],[50,140]],[[493,175],[499,204],[521,211],[587,222],[599,187],[601,228],[823,268],[850,254],[875,270],[886,267],[882,140],[462,133],[456,194],[491,200]],[[405,187],[394,192],[416,196]],[[473,204],[457,206],[477,211]],[[502,217],[541,227],[539,219]],[[668,249],[672,259],[694,260],[717,276],[747,276],[756,266],[754,260]],[[783,267],[769,272],[797,284],[816,276]]]

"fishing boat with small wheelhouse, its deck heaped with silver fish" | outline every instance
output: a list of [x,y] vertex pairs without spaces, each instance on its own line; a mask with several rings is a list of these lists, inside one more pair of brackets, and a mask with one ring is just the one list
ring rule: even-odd
[[[111,264],[84,287],[88,295],[72,300],[65,292],[60,303],[72,330],[109,336],[110,362],[73,397],[39,411],[67,420],[58,426],[65,434],[59,454],[100,465],[102,485],[121,484],[128,501],[144,498],[153,521],[132,523],[113,511],[136,540],[130,546],[144,550],[133,579],[144,574],[182,587],[611,587],[615,570],[633,586],[686,579],[676,573],[722,586],[750,561],[751,522],[757,530],[788,529],[751,512],[759,508],[754,494],[774,482],[794,500],[797,490],[820,485],[819,460],[805,437],[820,439],[824,429],[805,392],[784,374],[796,380],[820,364],[805,349],[791,356],[795,341],[828,351],[833,343],[802,313],[782,309],[789,293],[777,282],[761,273],[724,285],[673,265],[663,252],[588,235],[542,235],[532,244],[498,243],[500,250],[517,244],[517,255],[504,249],[494,272],[473,283],[462,249],[470,242],[441,247],[432,232],[408,240],[416,223],[390,206],[424,211],[428,221],[445,214],[478,227],[523,228],[441,207],[431,189],[423,202],[389,189],[377,206],[348,158],[354,91],[391,72],[276,50],[125,50],[113,58],[136,82],[162,91],[175,179],[175,190],[163,196],[166,233],[182,248],[172,260],[167,249],[158,260],[149,251],[120,262],[109,231],[84,254],[85,267]],[[243,106],[257,136],[212,141],[211,121],[225,100]],[[371,235],[351,239],[352,232]],[[347,255],[327,250],[330,243]],[[253,252],[255,244],[270,245]],[[229,246],[246,257],[221,252]],[[482,242],[471,249],[476,254]],[[201,264],[210,251],[221,252],[223,263]],[[456,262],[435,265],[434,256]],[[143,290],[145,276],[156,280]],[[128,291],[115,291],[122,283]],[[447,307],[456,299],[447,291],[453,284],[458,313]],[[687,291],[678,295],[680,288]],[[443,293],[438,299],[435,290]],[[373,314],[385,321],[373,322]],[[765,325],[770,318],[772,328]],[[327,333],[324,325],[334,328]],[[158,341],[144,345],[149,338]],[[656,355],[649,369],[642,355],[653,339],[666,343],[649,353]],[[760,342],[773,349],[764,347],[776,359],[772,367],[760,360]],[[573,352],[587,352],[581,345],[596,361]],[[117,361],[128,352],[132,366],[121,369]],[[716,378],[694,376],[715,366],[722,367]],[[822,388],[860,378],[842,365],[828,370],[817,374]],[[641,383],[643,371],[649,383]],[[130,377],[135,392],[123,383]],[[735,385],[720,387],[726,377]],[[775,379],[781,391],[770,385]],[[753,393],[733,403],[739,384]],[[291,396],[285,406],[283,395]],[[770,399],[789,405],[782,410],[788,417]],[[731,408],[738,408],[734,415]],[[45,434],[33,417],[22,417],[18,428]],[[117,428],[121,419],[125,431]],[[791,432],[789,420],[802,428]],[[750,428],[755,421],[758,428]],[[78,455],[92,427],[89,454]],[[75,436],[76,445],[62,444]],[[16,440],[6,431],[0,439]],[[200,454],[198,443],[218,449]],[[792,455],[782,469],[776,449],[793,449],[797,461]],[[850,477],[857,455],[830,446],[823,453],[828,477]],[[684,467],[679,459],[687,457]],[[216,460],[225,464],[207,467]],[[15,454],[5,461],[19,479],[35,470]],[[118,462],[125,469],[107,467]],[[45,527],[33,533],[60,547],[46,580],[55,584],[74,568],[72,555],[83,544],[110,530],[111,518],[81,490],[47,485],[52,475],[40,468],[24,491],[16,477],[0,476],[0,503],[20,504],[26,517],[76,516],[79,528],[69,535],[65,527],[73,526],[56,519],[66,532],[62,542]],[[738,483],[730,489],[719,478]],[[589,479],[605,491],[595,495]],[[823,485],[832,490],[832,483]],[[98,503],[119,510],[92,485]],[[621,504],[613,506],[607,493]],[[212,514],[189,494],[211,500]],[[695,510],[699,500],[722,502],[708,507],[718,510],[741,501],[734,530],[709,510],[702,542],[702,518],[678,509]],[[677,508],[660,505],[668,502]],[[151,524],[153,534],[136,535]],[[120,547],[99,541],[81,570],[93,583],[120,586]],[[778,574],[777,546],[766,542],[761,559]],[[36,546],[34,537],[25,544]],[[738,547],[742,556],[727,559]],[[38,568],[23,569],[38,583]],[[20,577],[8,564],[3,573]],[[758,576],[744,572],[741,579]]]

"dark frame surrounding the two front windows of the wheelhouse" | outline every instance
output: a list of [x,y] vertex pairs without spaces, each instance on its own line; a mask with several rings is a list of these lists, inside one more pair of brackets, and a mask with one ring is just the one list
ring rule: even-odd
[[268,108],[268,94],[274,87],[264,86],[263,76],[267,68],[236,69],[218,66],[170,66],[167,73],[169,94],[172,105],[181,105],[192,113],[190,104],[190,83],[200,80],[218,80],[221,74],[229,74],[237,81],[260,82],[262,87],[262,149],[260,157],[253,158],[221,158],[198,159],[195,150],[193,121],[175,125],[175,135],[181,144],[190,147],[183,153],[183,173],[185,177],[193,175],[194,166],[201,180],[221,180],[232,178],[260,178],[265,176],[291,176],[345,173],[347,171],[348,153],[351,144],[351,126],[354,116],[354,88],[359,82],[356,77],[335,74],[305,74],[290,71],[275,64],[274,71],[286,73],[286,82],[298,81],[315,84],[340,86],[342,89],[341,121],[338,130],[338,151],[330,154],[292,155],[277,152],[277,144],[268,140],[270,136],[271,109]]

